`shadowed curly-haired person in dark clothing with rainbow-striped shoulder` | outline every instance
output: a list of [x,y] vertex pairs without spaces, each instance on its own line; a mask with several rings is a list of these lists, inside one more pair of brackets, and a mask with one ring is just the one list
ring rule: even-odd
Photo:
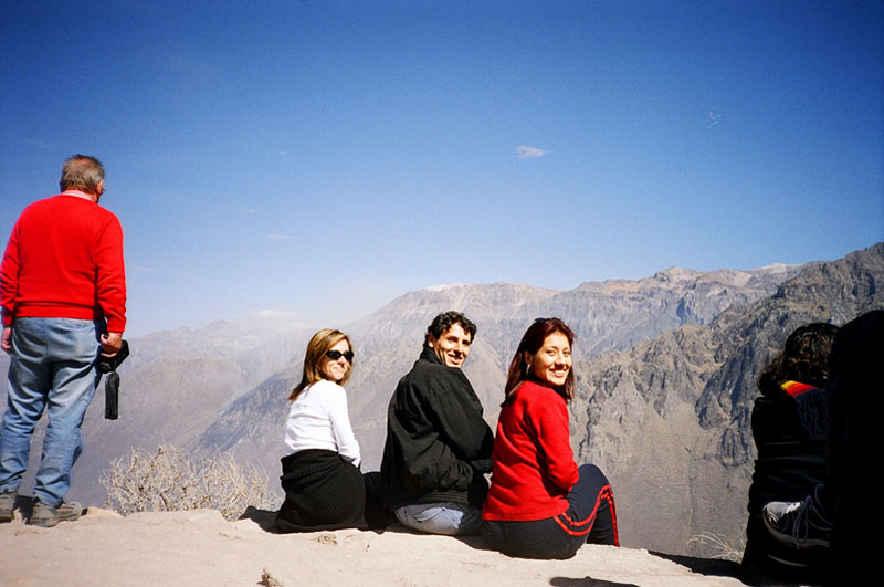
[[758,458],[749,486],[745,573],[790,580],[819,580],[824,565],[776,541],[765,528],[761,507],[802,499],[825,473],[825,402],[829,353],[838,327],[813,323],[797,328],[782,353],[761,373],[761,396],[751,424]]

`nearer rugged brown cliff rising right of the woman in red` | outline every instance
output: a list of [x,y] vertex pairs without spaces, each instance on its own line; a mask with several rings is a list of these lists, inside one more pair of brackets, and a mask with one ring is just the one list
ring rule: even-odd
[[772,296],[706,326],[578,364],[575,449],[608,472],[624,535],[662,549],[701,532],[736,539],[755,459],[758,375],[798,326],[884,307],[882,286],[884,243],[808,266]]

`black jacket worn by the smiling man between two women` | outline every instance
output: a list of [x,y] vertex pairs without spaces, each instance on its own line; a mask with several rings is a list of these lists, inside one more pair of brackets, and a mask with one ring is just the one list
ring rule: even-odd
[[493,447],[494,434],[482,419],[482,403],[470,380],[424,345],[390,399],[380,468],[385,503],[482,507],[488,493],[483,475],[491,472]]

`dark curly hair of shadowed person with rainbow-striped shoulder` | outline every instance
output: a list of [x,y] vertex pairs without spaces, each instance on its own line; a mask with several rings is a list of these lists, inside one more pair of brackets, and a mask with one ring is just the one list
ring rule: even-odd
[[814,322],[796,328],[786,339],[782,353],[761,371],[759,387],[765,381],[779,385],[782,381],[823,387],[829,379],[829,353],[838,334],[838,326]]

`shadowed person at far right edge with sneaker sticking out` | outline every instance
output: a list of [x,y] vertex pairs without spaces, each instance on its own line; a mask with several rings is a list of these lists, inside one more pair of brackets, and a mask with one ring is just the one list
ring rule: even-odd
[[882,357],[884,310],[839,331],[827,386],[824,481],[803,501],[772,502],[762,512],[781,543],[801,552],[828,548],[828,585],[863,585],[877,570],[873,536],[881,527],[880,489],[872,472],[882,449]]

